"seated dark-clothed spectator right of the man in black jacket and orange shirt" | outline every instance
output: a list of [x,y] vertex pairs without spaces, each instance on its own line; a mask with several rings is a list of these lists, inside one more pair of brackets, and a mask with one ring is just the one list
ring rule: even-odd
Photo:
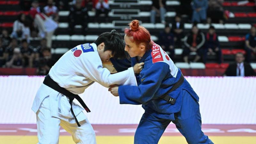
[[220,49],[220,43],[218,40],[218,36],[215,32],[215,28],[211,26],[209,28],[208,33],[206,33],[205,36],[205,52],[204,52],[204,57],[203,61],[206,63],[207,61],[207,55],[216,55],[218,63],[222,62],[222,53]]

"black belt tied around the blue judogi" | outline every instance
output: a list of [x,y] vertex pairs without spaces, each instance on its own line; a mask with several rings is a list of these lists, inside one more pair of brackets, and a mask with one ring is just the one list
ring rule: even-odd
[[164,99],[166,100],[168,103],[171,104],[175,104],[176,99],[170,97],[168,94],[171,93],[172,91],[174,91],[175,89],[177,89],[178,87],[180,87],[180,85],[184,82],[184,76],[181,74],[180,79],[178,80],[177,83],[175,83],[172,88],[166,92],[164,95],[162,95],[161,97],[157,98],[157,99]]

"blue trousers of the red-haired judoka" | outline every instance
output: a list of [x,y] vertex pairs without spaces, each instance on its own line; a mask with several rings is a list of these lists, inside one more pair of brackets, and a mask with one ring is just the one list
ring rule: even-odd
[[[172,121],[188,144],[213,144],[201,130],[199,103],[185,90],[180,112],[174,113],[175,120],[163,119],[146,112],[135,132],[134,144],[157,144],[164,130]],[[172,140],[170,140],[170,144]]]

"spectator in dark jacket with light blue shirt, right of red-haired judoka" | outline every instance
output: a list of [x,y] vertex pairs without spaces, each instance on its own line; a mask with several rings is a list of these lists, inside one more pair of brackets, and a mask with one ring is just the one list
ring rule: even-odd
[[180,14],[176,14],[174,18],[174,22],[172,23],[172,33],[174,34],[174,47],[180,48],[182,46],[181,39],[184,37],[183,29],[184,23],[181,22]]

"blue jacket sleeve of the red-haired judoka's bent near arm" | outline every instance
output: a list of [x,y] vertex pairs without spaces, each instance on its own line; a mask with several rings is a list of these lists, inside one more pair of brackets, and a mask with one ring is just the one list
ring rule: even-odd
[[156,62],[152,64],[151,68],[144,71],[145,74],[141,77],[144,80],[139,86],[119,86],[120,104],[140,105],[154,98],[156,91],[169,70],[170,68],[167,63]]

